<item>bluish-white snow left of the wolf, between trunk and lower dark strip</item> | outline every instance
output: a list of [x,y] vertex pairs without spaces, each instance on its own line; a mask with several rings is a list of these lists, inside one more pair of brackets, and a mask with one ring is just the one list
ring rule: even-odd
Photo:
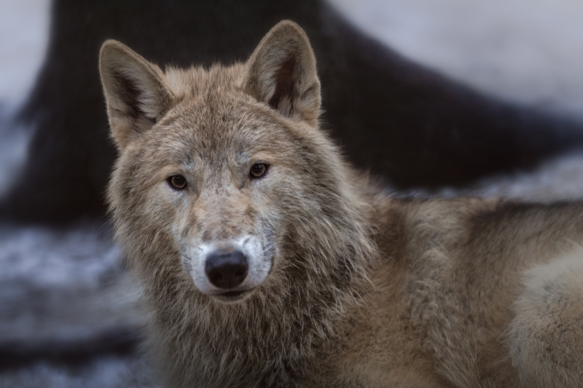
[[84,340],[146,317],[108,227],[0,225],[0,343]]

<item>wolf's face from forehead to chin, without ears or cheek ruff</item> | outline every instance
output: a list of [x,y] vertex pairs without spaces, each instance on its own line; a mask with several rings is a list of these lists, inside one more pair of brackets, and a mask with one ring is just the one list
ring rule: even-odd
[[171,237],[198,290],[236,302],[271,271],[286,234],[283,213],[307,194],[294,167],[310,161],[301,130],[243,91],[216,93],[212,78],[223,70],[205,73],[201,98],[171,109],[129,146],[135,170],[115,181],[139,185],[132,207],[147,217],[139,222],[163,220],[153,228]]

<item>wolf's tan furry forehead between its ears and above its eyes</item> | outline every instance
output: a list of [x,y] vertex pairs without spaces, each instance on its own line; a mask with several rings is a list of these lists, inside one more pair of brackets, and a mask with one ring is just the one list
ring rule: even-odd
[[241,90],[240,67],[167,73],[180,100],[159,122],[164,142],[182,152],[240,154],[271,148],[286,137],[276,115]]

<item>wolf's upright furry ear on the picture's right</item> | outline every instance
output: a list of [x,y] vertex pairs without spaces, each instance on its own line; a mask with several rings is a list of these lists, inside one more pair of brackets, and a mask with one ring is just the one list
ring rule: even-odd
[[304,30],[289,20],[276,24],[247,62],[243,87],[286,117],[317,125],[320,82]]

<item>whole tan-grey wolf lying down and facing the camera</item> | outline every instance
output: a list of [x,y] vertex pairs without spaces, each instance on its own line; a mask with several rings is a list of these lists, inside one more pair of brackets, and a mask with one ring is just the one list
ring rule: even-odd
[[583,386],[581,203],[389,195],[319,128],[290,21],[244,63],[99,67],[168,386]]

